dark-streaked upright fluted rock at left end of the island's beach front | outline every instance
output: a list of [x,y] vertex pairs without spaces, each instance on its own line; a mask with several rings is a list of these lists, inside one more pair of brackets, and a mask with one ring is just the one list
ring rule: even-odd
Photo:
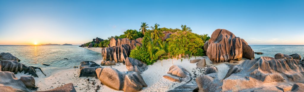
[[123,44],[114,47],[102,48],[102,58],[106,61],[115,61],[116,63],[125,63],[126,57],[129,57],[131,48],[129,44]]

